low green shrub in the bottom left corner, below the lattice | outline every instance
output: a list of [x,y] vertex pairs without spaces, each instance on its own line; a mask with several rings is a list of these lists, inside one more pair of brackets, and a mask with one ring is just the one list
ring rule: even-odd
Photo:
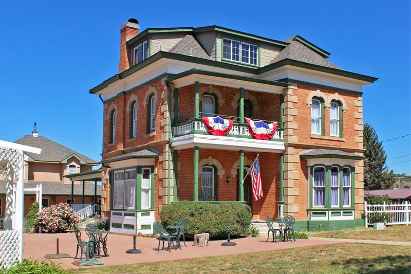
[[69,271],[64,270],[60,265],[51,261],[40,260],[23,260],[23,263],[18,263],[9,268],[8,271],[0,270],[0,273],[7,274],[20,274],[20,273],[33,273],[33,274],[68,274]]

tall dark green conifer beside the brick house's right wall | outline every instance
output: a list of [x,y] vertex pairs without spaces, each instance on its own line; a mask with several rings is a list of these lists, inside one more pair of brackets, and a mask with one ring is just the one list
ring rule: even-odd
[[394,172],[385,166],[387,155],[375,129],[364,124],[364,189],[389,189],[395,182]]

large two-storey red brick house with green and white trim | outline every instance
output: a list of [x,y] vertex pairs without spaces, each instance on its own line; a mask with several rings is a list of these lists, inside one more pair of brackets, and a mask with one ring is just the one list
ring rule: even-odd
[[[102,212],[112,231],[150,233],[177,200],[244,202],[253,221],[293,215],[300,230],[363,221],[362,86],[295,35],[277,41],[219,26],[120,28],[119,73],[90,89],[104,104]],[[202,116],[234,120],[214,136]],[[277,121],[272,139],[245,118]],[[259,155],[263,198],[248,168]],[[137,227],[136,227],[137,226]]]

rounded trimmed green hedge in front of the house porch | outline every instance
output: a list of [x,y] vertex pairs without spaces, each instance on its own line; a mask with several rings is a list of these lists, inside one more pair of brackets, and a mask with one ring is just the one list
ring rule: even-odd
[[226,238],[230,230],[232,236],[247,235],[251,225],[251,208],[238,202],[206,203],[179,201],[164,206],[160,213],[164,227],[175,225],[179,218],[187,222],[185,236],[210,233],[212,238]]

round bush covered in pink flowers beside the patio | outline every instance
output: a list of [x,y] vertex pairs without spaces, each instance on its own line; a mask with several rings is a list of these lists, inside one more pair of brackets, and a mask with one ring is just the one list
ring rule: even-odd
[[45,232],[66,232],[79,222],[76,212],[65,203],[46,207],[39,213],[39,225]]

